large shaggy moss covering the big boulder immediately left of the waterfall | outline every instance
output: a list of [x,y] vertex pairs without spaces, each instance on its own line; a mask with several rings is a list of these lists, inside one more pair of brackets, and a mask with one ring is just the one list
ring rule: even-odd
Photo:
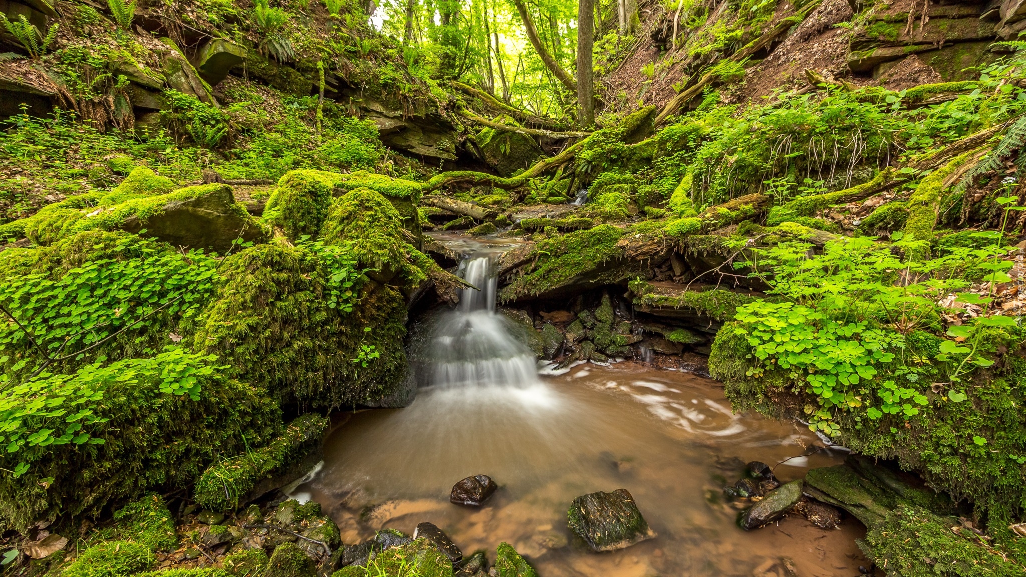
[[[380,195],[365,192],[394,211]],[[358,206],[354,211],[357,218],[370,216],[359,214]],[[366,227],[381,235],[388,226],[378,221],[374,229],[376,223],[367,220],[346,228],[331,220],[329,214],[325,230],[333,227],[340,234],[359,234],[359,227]],[[359,302],[346,313],[325,300],[329,274],[318,254],[303,246],[272,242],[232,255],[202,314],[205,323],[196,332],[194,347],[221,355],[240,378],[308,407],[381,399],[406,374],[403,297],[393,286],[364,283],[354,287]],[[373,331],[364,332],[366,326]],[[373,346],[380,354],[367,367],[353,361],[361,345]]]

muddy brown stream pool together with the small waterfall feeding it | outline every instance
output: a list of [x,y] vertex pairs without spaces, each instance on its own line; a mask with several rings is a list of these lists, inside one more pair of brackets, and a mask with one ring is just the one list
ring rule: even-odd
[[[474,243],[457,310],[412,330],[418,396],[404,409],[338,415],[324,466],[298,491],[339,524],[346,543],[383,528],[434,523],[465,555],[506,541],[542,577],[652,575],[855,576],[868,566],[846,518],[823,531],[801,516],[745,532],[722,488],[745,462],[771,465],[821,441],[800,424],[735,415],[716,381],[623,361],[538,370],[516,328],[495,310],[501,244]],[[777,467],[782,482],[836,464],[826,451]],[[487,474],[480,508],[448,502],[452,485]],[[574,498],[624,488],[657,538],[590,552],[570,533]]]

